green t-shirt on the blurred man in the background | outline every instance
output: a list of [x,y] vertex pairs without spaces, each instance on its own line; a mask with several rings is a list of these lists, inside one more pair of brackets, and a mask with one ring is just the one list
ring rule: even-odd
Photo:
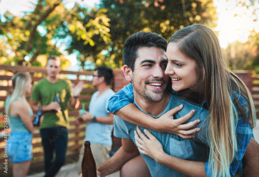
[[69,127],[67,102],[73,96],[70,80],[59,79],[54,84],[47,79],[40,80],[33,87],[31,100],[48,105],[55,100],[56,93],[59,93],[61,112],[55,112],[54,110],[44,112],[40,129],[56,126]]

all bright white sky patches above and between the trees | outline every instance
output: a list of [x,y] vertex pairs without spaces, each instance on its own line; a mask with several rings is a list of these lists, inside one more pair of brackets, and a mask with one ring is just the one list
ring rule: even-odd
[[[4,21],[3,14],[6,10],[10,11],[13,15],[23,16],[24,12],[33,11],[34,5],[38,0],[1,0],[0,1],[0,18]],[[94,7],[99,4],[99,0],[63,0],[67,9],[73,8],[74,4],[78,2],[81,6]],[[238,40],[240,42],[246,42],[249,31],[253,29],[259,32],[259,19],[253,21],[256,17],[252,15],[253,8],[259,9],[259,3],[256,1],[254,7],[247,9],[246,7],[236,6],[239,0],[215,0],[214,6],[217,7],[218,13],[218,25],[214,31],[219,31],[219,41],[223,48],[226,48],[229,43],[233,43]],[[249,4],[249,0],[242,0]],[[237,16],[235,16],[237,14]],[[259,17],[259,10],[256,11],[257,17]],[[235,17],[234,17],[235,16]],[[40,29],[39,29],[40,30]],[[61,47],[64,52],[65,47]],[[62,53],[63,53],[62,52]],[[65,52],[63,54],[66,54]],[[67,55],[66,58],[71,61],[71,65],[77,64],[76,55]]]

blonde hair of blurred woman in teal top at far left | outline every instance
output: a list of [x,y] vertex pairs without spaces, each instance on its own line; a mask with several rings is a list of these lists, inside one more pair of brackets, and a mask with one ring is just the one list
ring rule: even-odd
[[[5,113],[9,114],[10,113],[10,105],[12,104],[13,101],[15,101],[20,95],[25,94],[26,92],[26,86],[28,84],[28,81],[30,80],[31,76],[26,74],[26,73],[16,73],[15,75],[12,76],[12,84],[13,84],[13,93],[9,98],[8,105],[6,106]],[[30,106],[29,103],[27,102],[26,98],[23,98],[25,103]]]

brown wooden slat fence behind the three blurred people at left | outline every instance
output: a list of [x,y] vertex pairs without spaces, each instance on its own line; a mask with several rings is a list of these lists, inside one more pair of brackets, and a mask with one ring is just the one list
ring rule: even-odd
[[[32,81],[35,83],[43,78],[45,78],[44,75],[46,75],[46,69],[44,68],[32,68],[32,67],[20,67],[20,66],[4,66],[0,65],[0,176],[4,176],[4,161],[6,158],[4,158],[4,106],[3,102],[6,100],[6,97],[8,95],[8,92],[12,90],[12,87],[10,86],[10,79],[14,72],[27,72],[32,74]],[[6,74],[3,74],[6,73]],[[61,71],[60,77],[67,78],[71,77],[72,74],[76,76],[75,80],[71,80],[73,84],[77,84],[80,80],[79,77],[86,77],[86,76],[92,76],[93,72],[71,72],[71,71]],[[96,89],[92,88],[91,81],[83,80],[85,83],[85,88],[83,89],[81,96],[80,96],[80,106],[78,109],[82,108],[82,103],[85,103],[85,109],[88,110],[89,102],[91,99],[92,93],[96,91]],[[27,95],[27,100],[29,100],[30,95]],[[2,102],[2,104],[1,104]],[[70,120],[70,128],[68,129],[69,135],[68,135],[68,148],[67,148],[67,159],[75,159],[75,157],[78,155],[80,147],[82,146],[83,139],[85,137],[85,124],[78,126],[74,122],[75,116],[78,115],[78,110],[69,109],[69,120]],[[10,133],[10,129],[8,129],[8,133]],[[33,133],[33,161],[31,168],[37,168],[37,167],[43,167],[43,147],[41,145],[41,137],[39,131],[35,131]],[[8,160],[8,172],[11,174],[12,168],[11,163]]]

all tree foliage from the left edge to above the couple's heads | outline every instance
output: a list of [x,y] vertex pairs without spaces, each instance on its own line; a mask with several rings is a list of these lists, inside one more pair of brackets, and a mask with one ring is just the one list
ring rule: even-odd
[[[68,10],[62,0],[39,0],[24,17],[5,13],[0,22],[0,64],[44,66],[49,55],[61,48],[77,59],[123,66],[125,40],[138,31],[158,33],[167,40],[178,29],[193,23],[215,27],[216,8],[212,0],[102,0],[98,8],[75,4]],[[25,61],[24,57],[29,57]]]

